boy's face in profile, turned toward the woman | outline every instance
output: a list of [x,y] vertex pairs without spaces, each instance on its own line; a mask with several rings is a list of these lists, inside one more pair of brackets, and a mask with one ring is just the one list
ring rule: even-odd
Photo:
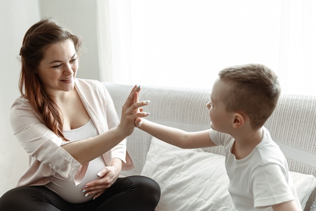
[[226,104],[223,101],[223,96],[228,92],[230,84],[221,79],[217,79],[213,85],[212,93],[210,94],[210,102],[206,104],[209,110],[209,118],[212,122],[210,127],[214,130],[228,133],[231,128],[231,119],[233,113],[226,112]]

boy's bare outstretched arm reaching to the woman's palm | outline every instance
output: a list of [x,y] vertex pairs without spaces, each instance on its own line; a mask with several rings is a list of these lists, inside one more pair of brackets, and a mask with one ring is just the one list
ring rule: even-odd
[[137,118],[135,126],[164,142],[183,149],[216,146],[209,138],[209,130],[187,132],[178,128],[157,124],[144,118]]

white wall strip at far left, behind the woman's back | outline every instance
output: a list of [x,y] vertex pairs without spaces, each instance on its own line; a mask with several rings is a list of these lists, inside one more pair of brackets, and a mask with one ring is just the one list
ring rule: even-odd
[[9,109],[20,93],[18,60],[26,30],[39,20],[37,0],[0,2],[0,195],[13,188],[26,170],[28,157],[12,133],[8,121]]

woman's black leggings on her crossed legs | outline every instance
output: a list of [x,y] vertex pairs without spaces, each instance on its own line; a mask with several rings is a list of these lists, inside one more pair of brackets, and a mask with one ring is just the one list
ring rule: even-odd
[[43,186],[18,187],[0,198],[1,211],[152,211],[160,199],[160,187],[143,176],[119,178],[94,200],[69,203]]

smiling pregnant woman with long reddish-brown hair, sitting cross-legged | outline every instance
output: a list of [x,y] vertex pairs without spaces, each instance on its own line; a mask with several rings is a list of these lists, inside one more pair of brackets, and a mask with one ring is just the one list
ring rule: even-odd
[[154,210],[160,187],[143,176],[121,177],[134,167],[125,137],[136,112],[135,86],[121,120],[102,83],[77,79],[81,38],[52,19],[26,32],[21,55],[21,96],[10,123],[29,155],[17,187],[0,198],[0,210]]

